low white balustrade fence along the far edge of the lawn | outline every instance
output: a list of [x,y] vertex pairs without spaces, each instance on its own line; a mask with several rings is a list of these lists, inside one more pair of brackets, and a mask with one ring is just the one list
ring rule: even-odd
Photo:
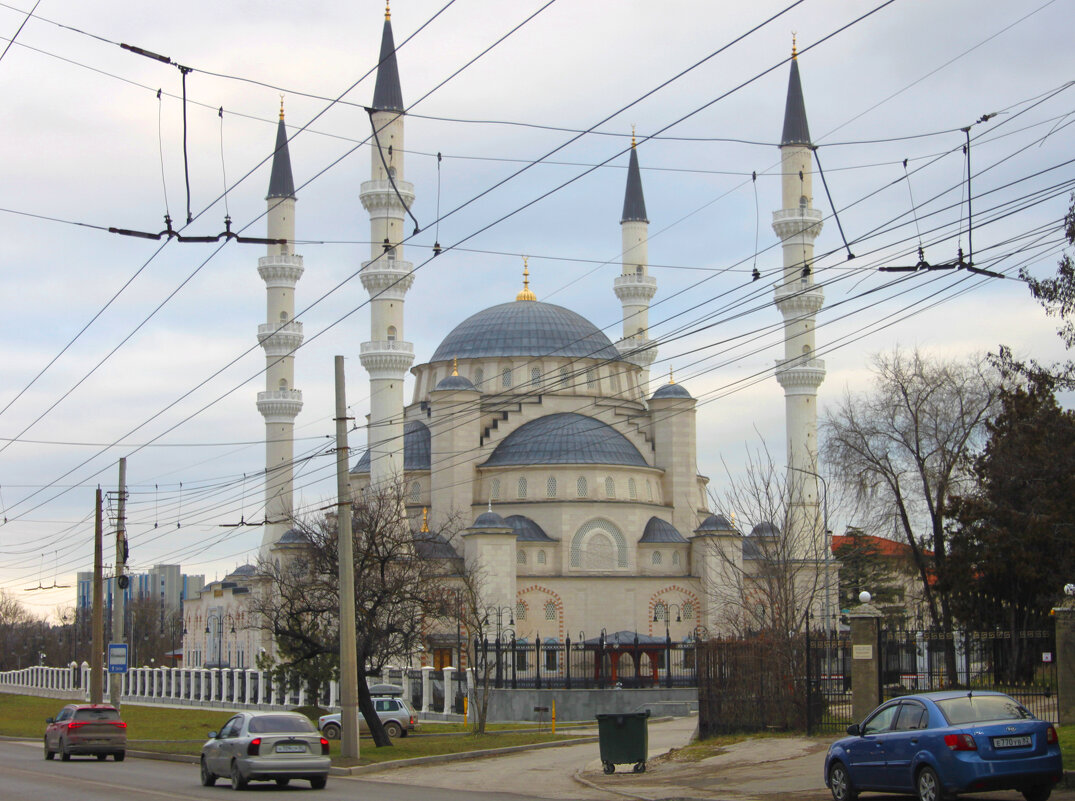
[[[452,668],[444,669],[445,686],[450,686]],[[450,693],[445,693],[444,709],[432,709],[432,668],[421,669],[421,712],[450,714]],[[18,692],[28,696],[89,700],[89,664],[71,662],[66,668],[33,666],[22,670],[0,671],[0,692]],[[319,699],[307,697],[305,688],[290,690],[282,682],[274,683],[261,670],[228,668],[131,668],[120,673],[120,698],[125,701],[143,701],[167,704],[227,709],[287,709],[318,703],[336,709],[340,685],[329,682]],[[387,671],[386,675],[387,677]],[[411,683],[416,681],[404,671],[403,697],[412,698]],[[370,680],[373,684],[373,681]],[[104,674],[104,695],[109,695],[109,676]],[[468,695],[474,689],[473,673],[467,671]]]

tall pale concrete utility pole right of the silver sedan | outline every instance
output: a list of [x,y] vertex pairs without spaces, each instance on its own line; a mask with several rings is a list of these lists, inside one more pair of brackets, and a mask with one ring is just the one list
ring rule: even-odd
[[358,759],[358,644],[355,636],[355,554],[347,481],[347,396],[343,356],[335,357],[336,546],[340,561],[340,756]]

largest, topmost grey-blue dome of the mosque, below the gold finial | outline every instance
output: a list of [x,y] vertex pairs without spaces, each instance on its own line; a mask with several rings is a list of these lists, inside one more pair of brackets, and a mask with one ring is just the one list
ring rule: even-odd
[[517,300],[464,319],[444,338],[431,361],[494,356],[620,358],[608,338],[582,315],[553,303]]

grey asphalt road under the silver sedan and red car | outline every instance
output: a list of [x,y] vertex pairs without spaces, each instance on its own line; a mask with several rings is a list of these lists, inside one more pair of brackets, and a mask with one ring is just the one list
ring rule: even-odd
[[[385,785],[349,776],[329,776],[328,787],[311,790],[306,782],[285,788],[255,783],[246,790],[254,798],[269,793],[281,798],[310,798],[317,801],[533,801],[540,796],[519,796],[478,788],[431,788],[419,785]],[[245,796],[245,793],[244,793]],[[111,759],[99,762],[89,757],[72,757],[70,762],[46,762],[41,744],[0,742],[0,799],[3,801],[195,801],[233,798],[223,779],[216,787],[202,787],[198,766],[157,759]]]

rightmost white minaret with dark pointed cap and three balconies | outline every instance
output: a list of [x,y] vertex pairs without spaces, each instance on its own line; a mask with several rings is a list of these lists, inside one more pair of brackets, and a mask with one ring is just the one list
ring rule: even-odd
[[[791,76],[780,138],[783,209],[773,212],[773,230],[784,247],[784,275],[773,300],[784,315],[784,358],[776,362],[776,380],[784,387],[787,414],[788,533],[807,556],[823,535],[817,492],[817,388],[825,381],[825,362],[814,358],[814,315],[825,292],[814,284],[814,240],[821,232],[821,212],[813,204],[814,147],[806,125],[799,60],[791,45]],[[815,539],[803,534],[809,533]]]

